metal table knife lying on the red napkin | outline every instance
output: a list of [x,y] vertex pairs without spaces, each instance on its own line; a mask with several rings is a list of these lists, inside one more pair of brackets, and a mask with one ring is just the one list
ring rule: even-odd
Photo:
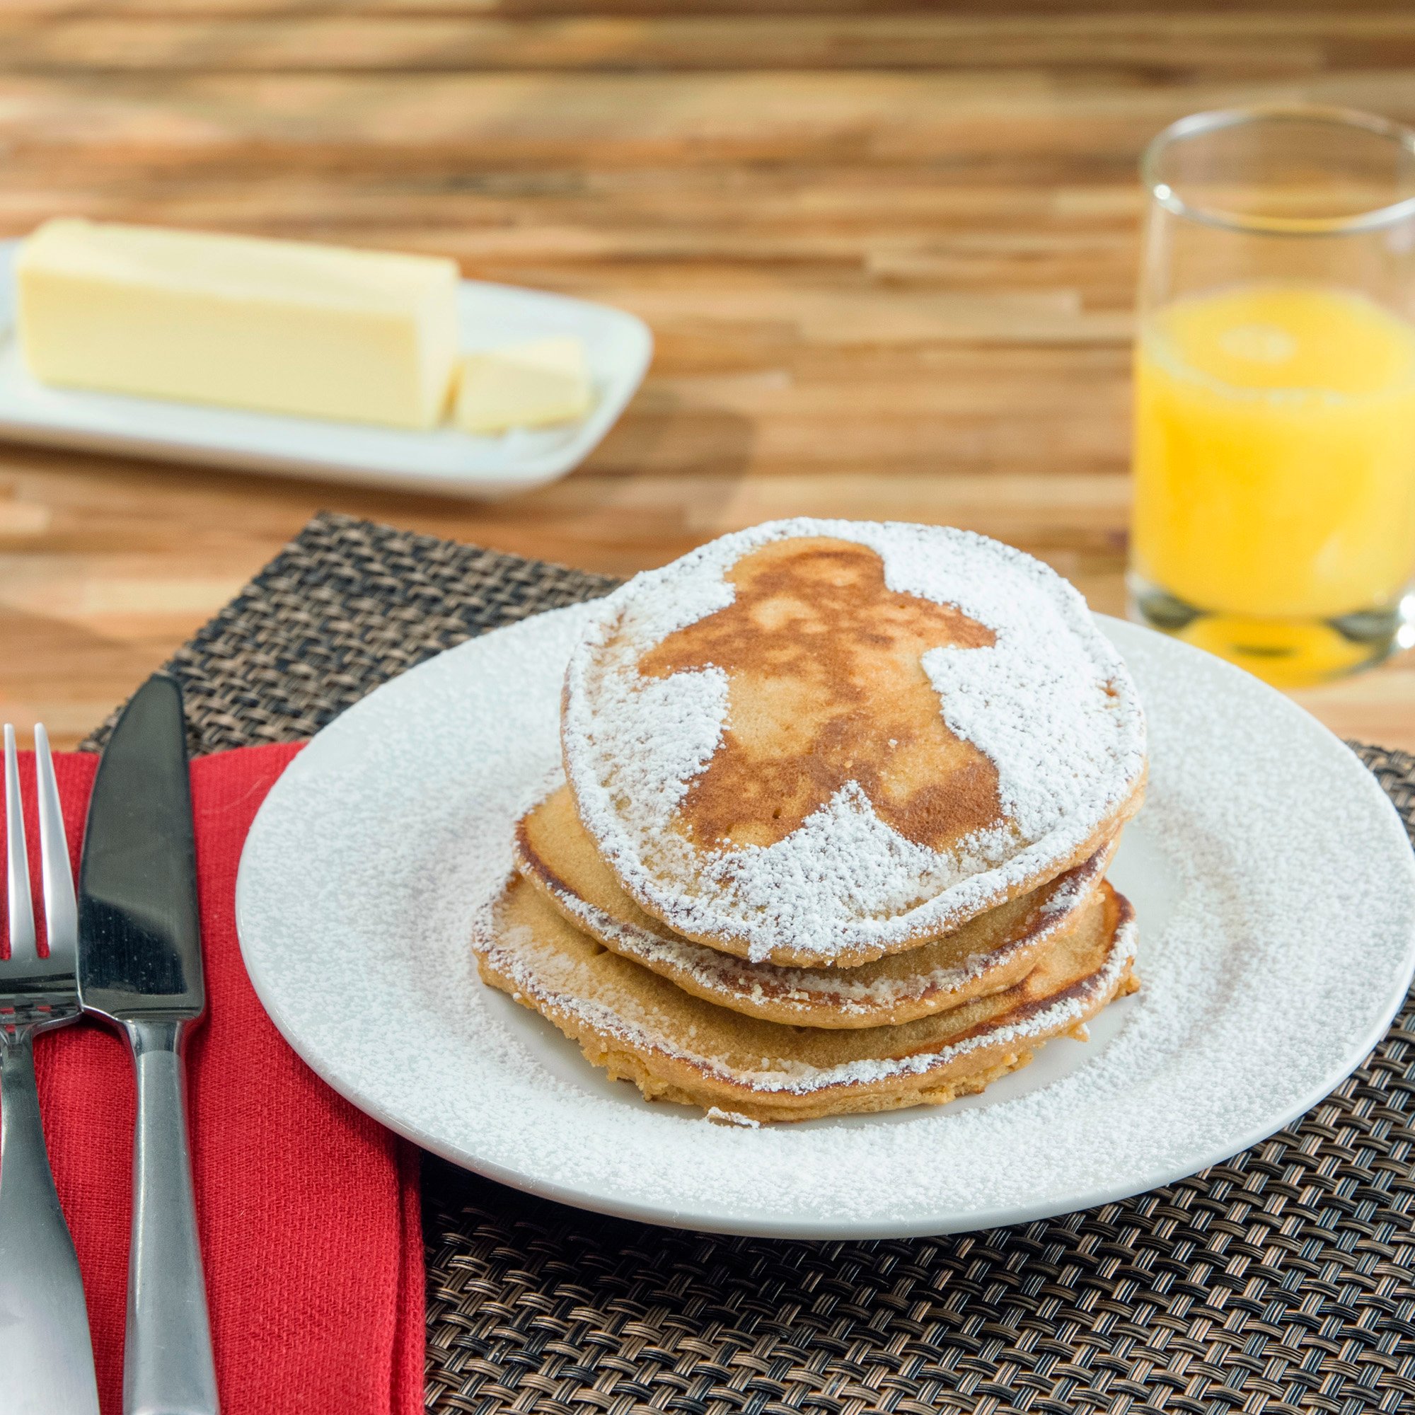
[[99,763],[79,870],[79,1000],[133,1049],[125,1415],[215,1415],[183,1050],[207,1006],[181,688],[157,674]]

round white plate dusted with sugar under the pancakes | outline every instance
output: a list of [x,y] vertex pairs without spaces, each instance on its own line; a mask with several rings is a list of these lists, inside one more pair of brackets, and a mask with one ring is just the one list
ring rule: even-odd
[[586,607],[441,654],[324,729],[267,797],[236,916],[256,992],[337,1091],[458,1165],[651,1223],[938,1234],[1135,1194],[1281,1129],[1380,1040],[1415,965],[1415,860],[1357,758],[1257,679],[1104,620],[1150,723],[1111,877],[1140,990],[982,1097],[736,1129],[642,1101],[483,986],[468,921],[559,761]]

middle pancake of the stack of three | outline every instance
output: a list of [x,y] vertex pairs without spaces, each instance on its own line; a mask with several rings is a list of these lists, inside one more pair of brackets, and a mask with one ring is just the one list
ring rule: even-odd
[[1073,928],[1115,852],[1090,860],[952,934],[857,968],[754,964],[674,934],[620,887],[567,787],[516,826],[516,867],[582,932],[695,998],[750,1017],[809,1027],[911,1022],[1010,988]]

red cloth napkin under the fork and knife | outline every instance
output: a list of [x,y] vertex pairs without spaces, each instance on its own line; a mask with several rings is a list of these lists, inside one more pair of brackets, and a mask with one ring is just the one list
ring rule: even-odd
[[[249,747],[191,768],[208,1012],[191,1036],[187,1075],[216,1384],[225,1415],[416,1415],[417,1152],[290,1050],[256,1000],[236,944],[241,846],[297,750]],[[96,764],[86,753],[55,763],[75,879]],[[21,778],[37,862],[30,760]],[[37,872],[34,887],[38,900]],[[103,1415],[119,1415],[132,1063],[116,1033],[85,1020],[40,1037],[35,1068],[50,1160],[83,1271],[99,1399]]]

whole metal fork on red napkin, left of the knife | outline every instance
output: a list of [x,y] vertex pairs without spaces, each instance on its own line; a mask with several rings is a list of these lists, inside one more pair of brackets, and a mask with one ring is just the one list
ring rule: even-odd
[[34,729],[50,957],[35,945],[14,727],[4,729],[10,958],[0,961],[0,1408],[98,1415],[88,1306],[54,1191],[34,1088],[34,1036],[79,1017],[78,907],[50,739]]

